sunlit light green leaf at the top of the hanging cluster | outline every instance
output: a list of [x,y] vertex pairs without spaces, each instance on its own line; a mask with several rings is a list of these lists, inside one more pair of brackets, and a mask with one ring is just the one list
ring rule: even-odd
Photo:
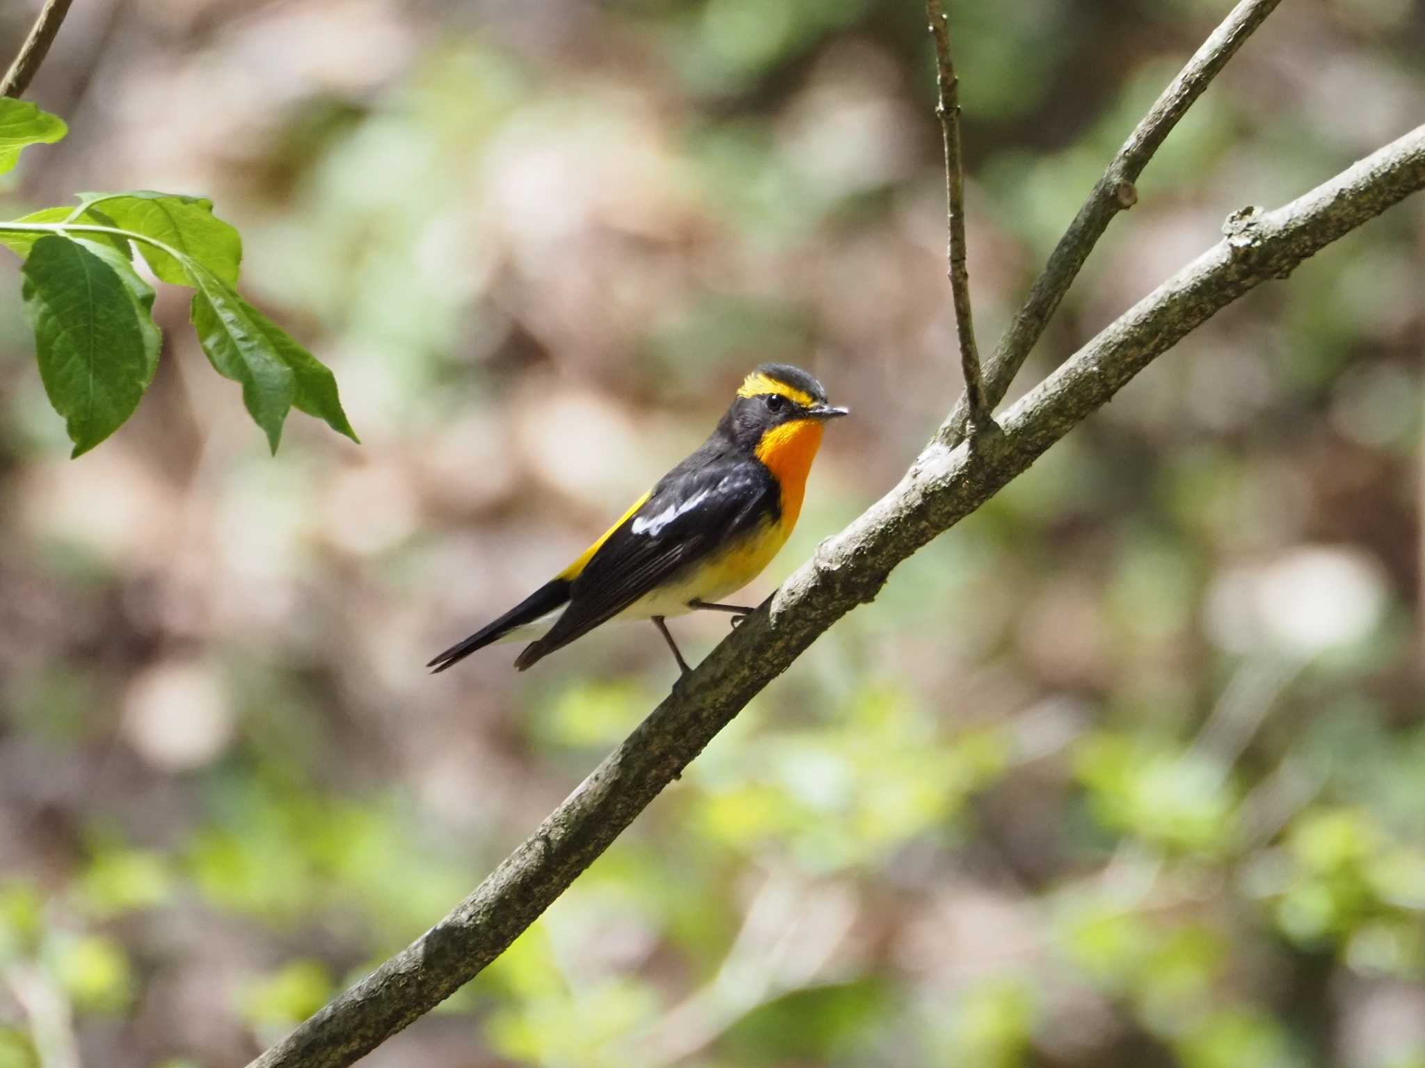
[[[242,238],[212,214],[212,201],[148,189],[84,192],[80,194],[80,206],[71,212],[93,212],[97,208],[101,208],[103,216],[113,219],[113,225],[160,241],[201,263],[227,288],[237,286]],[[164,282],[192,285],[184,265],[167,252],[144,242],[134,244]]]

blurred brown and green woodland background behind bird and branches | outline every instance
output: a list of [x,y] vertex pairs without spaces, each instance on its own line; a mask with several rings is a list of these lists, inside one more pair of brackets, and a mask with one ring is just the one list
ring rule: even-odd
[[[989,347],[1228,4],[949,7]],[[1418,124],[1421,54],[1418,0],[1282,4],[1017,389]],[[4,266],[0,1067],[239,1064],[470,890],[673,665],[420,665],[754,363],[855,417],[750,600],[893,484],[959,392],[931,71],[918,0],[76,4],[0,208],[211,195],[365,444],[269,459],[165,289],[70,463]],[[369,1064],[1425,1065],[1422,278],[1416,199],[1194,333]]]

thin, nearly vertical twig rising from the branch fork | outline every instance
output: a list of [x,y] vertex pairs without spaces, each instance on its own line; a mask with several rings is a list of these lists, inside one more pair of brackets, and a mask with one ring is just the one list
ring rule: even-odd
[[939,98],[935,114],[940,120],[945,140],[945,216],[949,226],[946,258],[949,259],[950,299],[955,302],[955,332],[960,339],[960,370],[965,373],[965,400],[970,426],[980,429],[990,422],[990,406],[985,400],[985,379],[980,375],[979,347],[975,345],[975,319],[970,315],[970,272],[965,242],[965,161],[960,157],[960,80],[950,58],[950,28],[940,0],[925,0],[931,19],[931,38],[935,41],[935,83]]

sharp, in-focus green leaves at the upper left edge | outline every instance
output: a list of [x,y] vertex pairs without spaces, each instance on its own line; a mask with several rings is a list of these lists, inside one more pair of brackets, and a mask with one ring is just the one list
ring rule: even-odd
[[[64,124],[33,104],[0,100],[0,171],[24,145],[58,141]],[[0,222],[0,244],[24,262],[24,305],[40,377],[80,456],[138,407],[158,366],[154,290],[134,273],[133,249],[154,275],[192,286],[192,322],[214,369],[276,453],[291,407],[356,441],[336,379],[282,328],[235,292],[242,239],[201,197],[88,192],[74,208]]]

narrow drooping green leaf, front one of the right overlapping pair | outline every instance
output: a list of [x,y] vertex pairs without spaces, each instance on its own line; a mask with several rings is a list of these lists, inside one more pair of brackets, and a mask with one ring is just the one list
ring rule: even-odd
[[188,262],[192,325],[212,369],[242,386],[242,403],[276,453],[282,423],[296,399],[296,375],[251,306],[201,263]]

